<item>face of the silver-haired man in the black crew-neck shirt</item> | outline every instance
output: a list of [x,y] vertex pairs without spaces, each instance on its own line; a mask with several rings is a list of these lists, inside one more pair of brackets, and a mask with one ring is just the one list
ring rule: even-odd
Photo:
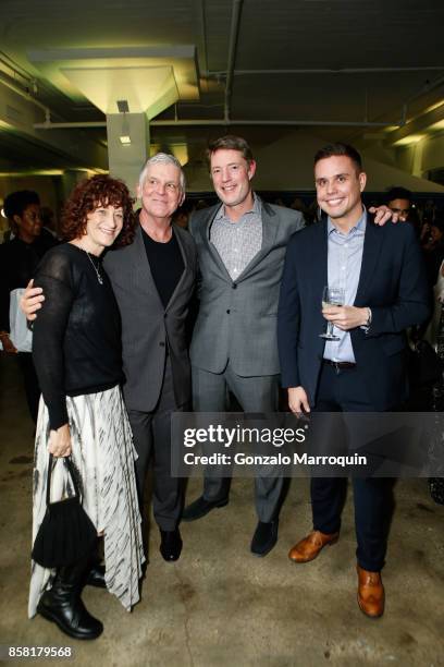
[[143,217],[171,219],[185,198],[181,186],[181,170],[169,162],[150,165],[138,196],[141,198]]

